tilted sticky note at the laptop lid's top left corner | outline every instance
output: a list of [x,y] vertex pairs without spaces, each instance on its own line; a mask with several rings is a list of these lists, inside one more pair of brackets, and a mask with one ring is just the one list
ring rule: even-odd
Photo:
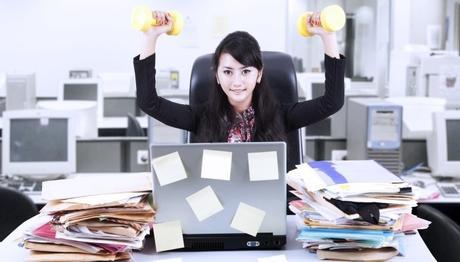
[[152,168],[155,170],[161,186],[187,178],[184,164],[178,152],[153,159]]

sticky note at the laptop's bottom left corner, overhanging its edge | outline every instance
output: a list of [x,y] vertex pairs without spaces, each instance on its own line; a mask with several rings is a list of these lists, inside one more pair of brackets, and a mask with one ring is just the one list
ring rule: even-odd
[[153,235],[157,252],[184,247],[182,226],[179,220],[154,224]]

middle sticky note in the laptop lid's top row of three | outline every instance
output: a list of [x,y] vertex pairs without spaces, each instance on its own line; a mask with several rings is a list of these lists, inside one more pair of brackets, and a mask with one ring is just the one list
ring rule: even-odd
[[201,178],[230,180],[232,152],[203,150]]

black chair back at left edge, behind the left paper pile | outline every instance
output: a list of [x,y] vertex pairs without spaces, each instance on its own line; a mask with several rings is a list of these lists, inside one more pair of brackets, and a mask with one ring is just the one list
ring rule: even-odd
[[4,186],[0,186],[0,209],[0,241],[22,222],[38,213],[37,207],[28,196]]

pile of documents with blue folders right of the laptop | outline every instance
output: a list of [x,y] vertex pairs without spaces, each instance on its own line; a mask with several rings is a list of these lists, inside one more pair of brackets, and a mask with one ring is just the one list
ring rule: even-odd
[[427,228],[411,214],[409,184],[373,160],[317,161],[297,166],[287,183],[300,200],[297,241],[320,259],[386,260],[404,255],[401,236]]

